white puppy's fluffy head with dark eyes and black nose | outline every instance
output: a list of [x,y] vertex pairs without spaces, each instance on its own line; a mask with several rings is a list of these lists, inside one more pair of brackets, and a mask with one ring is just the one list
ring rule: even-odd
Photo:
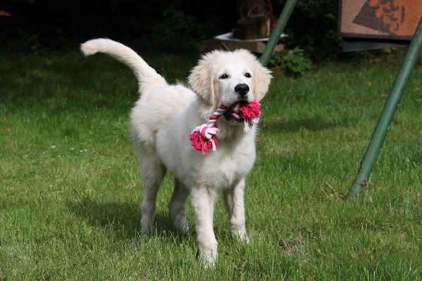
[[259,101],[267,93],[270,81],[271,72],[246,50],[207,53],[188,77],[193,91],[213,108]]

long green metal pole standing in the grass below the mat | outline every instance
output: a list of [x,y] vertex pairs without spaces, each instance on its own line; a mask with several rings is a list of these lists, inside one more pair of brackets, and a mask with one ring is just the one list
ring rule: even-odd
[[368,182],[369,175],[371,174],[373,165],[376,162],[376,158],[383,146],[385,136],[392,122],[392,118],[395,115],[397,106],[399,105],[400,99],[404,93],[404,89],[407,86],[407,81],[409,80],[411,71],[414,68],[416,61],[418,60],[418,55],[421,53],[422,46],[422,18],[419,21],[418,27],[414,34],[413,39],[411,40],[409,49],[407,51],[404,60],[402,61],[402,66],[397,73],[397,77],[392,85],[390,94],[385,102],[383,112],[378,119],[378,124],[373,131],[371,141],[369,142],[368,148],[362,162],[359,166],[359,171],[357,176],[350,188],[347,195],[347,200],[353,200],[357,195],[362,195],[364,189],[366,188],[366,183]]

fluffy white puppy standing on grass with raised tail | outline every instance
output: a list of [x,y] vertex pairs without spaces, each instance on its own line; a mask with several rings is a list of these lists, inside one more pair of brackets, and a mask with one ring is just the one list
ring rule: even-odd
[[[158,188],[169,170],[175,182],[170,214],[175,226],[188,232],[186,200],[191,195],[200,259],[210,264],[217,260],[212,223],[219,190],[230,216],[231,234],[248,241],[243,193],[245,176],[255,162],[256,126],[245,132],[244,120],[234,105],[261,100],[271,80],[269,70],[248,51],[213,51],[191,71],[188,83],[192,91],[167,84],[131,48],[110,39],[87,41],[81,49],[85,55],[100,52],[113,56],[131,67],[139,81],[140,98],[132,110],[130,129],[144,184],[143,232],[153,228]],[[229,110],[215,122],[216,151],[207,156],[193,152],[188,135],[206,123],[220,105]]]

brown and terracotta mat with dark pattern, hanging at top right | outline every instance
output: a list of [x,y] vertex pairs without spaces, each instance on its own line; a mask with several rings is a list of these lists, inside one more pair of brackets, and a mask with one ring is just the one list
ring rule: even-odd
[[341,0],[339,14],[341,37],[411,40],[422,0]]

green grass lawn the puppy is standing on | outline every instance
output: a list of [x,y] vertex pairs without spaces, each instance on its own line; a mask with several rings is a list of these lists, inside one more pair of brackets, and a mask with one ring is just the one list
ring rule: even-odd
[[[156,232],[139,232],[142,186],[129,140],[127,67],[79,53],[0,58],[0,280],[420,280],[422,67],[371,174],[345,202],[400,60],[275,74],[247,178],[250,244],[231,239],[222,200],[219,262],[196,262],[172,226],[172,178]],[[168,81],[196,57],[149,54]],[[188,220],[193,225],[189,207]]]

